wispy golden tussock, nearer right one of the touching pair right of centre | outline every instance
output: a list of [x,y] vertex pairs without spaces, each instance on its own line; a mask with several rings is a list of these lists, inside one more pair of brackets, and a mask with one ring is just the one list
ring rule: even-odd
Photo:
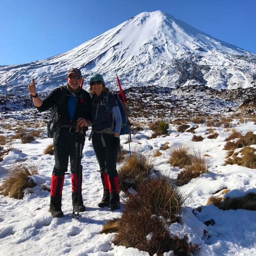
[[191,158],[191,163],[185,166],[185,170],[181,171],[177,176],[178,186],[183,186],[188,184],[188,182],[194,178],[198,178],[201,173],[209,173],[209,164],[204,156],[200,154]]

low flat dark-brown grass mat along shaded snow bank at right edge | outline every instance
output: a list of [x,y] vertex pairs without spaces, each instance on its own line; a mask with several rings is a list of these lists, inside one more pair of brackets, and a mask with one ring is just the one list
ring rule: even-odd
[[[224,201],[223,203],[221,201]],[[211,196],[207,202],[207,205],[214,204],[219,209],[225,210],[237,210],[244,209],[250,211],[256,211],[256,194],[248,193],[243,197],[234,197],[234,198],[216,198]]]

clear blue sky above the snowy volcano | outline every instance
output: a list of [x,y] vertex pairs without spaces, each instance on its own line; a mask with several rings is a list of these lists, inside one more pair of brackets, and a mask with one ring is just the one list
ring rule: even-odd
[[0,9],[0,65],[52,57],[157,10],[256,53],[255,0],[0,0]]

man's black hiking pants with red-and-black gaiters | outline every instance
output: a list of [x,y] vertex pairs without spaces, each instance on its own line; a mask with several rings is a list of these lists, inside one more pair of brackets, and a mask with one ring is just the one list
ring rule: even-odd
[[[82,149],[84,148],[84,135],[80,135],[78,141],[78,146],[82,143]],[[53,134],[53,149],[54,149],[54,159],[55,165],[52,172],[52,183],[51,183],[51,205],[57,209],[61,208],[61,197],[62,197],[62,188],[64,183],[65,172],[68,172],[68,158],[70,158],[70,171],[71,171],[71,180],[72,180],[72,194],[77,194],[78,187],[78,173],[79,165],[81,170],[80,176],[80,199],[79,204],[83,204],[82,199],[82,165],[81,162],[77,166],[76,170],[76,179],[74,176],[76,169],[76,132],[74,134],[69,133],[68,128],[61,128],[60,133],[56,138],[56,132]],[[75,187],[75,189],[74,189]],[[75,190],[75,191],[74,191]],[[75,197],[76,200],[77,197]],[[72,197],[73,200],[73,197]],[[72,201],[73,203],[73,201]],[[77,202],[75,202],[77,203]]]

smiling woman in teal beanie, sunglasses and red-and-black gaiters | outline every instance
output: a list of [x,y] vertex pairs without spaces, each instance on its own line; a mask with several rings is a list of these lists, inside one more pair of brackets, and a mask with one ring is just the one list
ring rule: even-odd
[[120,147],[122,117],[115,96],[109,92],[100,74],[92,75],[90,91],[92,132],[89,140],[92,138],[103,184],[103,197],[98,206],[105,207],[110,204],[110,209],[115,211],[120,208],[116,158]]

